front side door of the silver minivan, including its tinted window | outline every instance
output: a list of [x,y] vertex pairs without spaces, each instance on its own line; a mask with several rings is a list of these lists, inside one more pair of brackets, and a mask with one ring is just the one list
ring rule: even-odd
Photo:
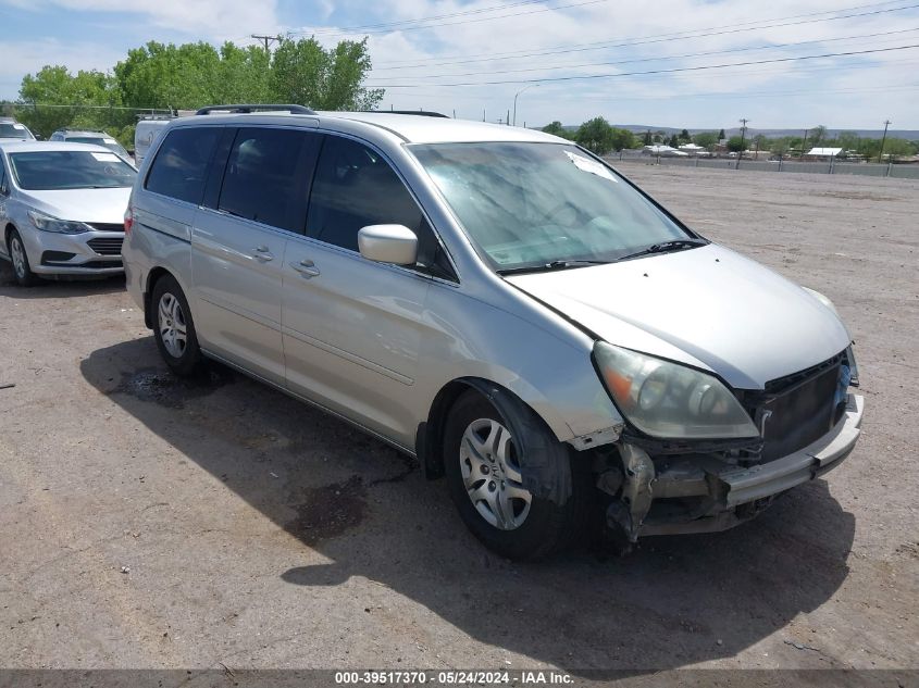
[[[358,230],[402,224],[419,235],[417,266],[365,260]],[[401,179],[373,149],[326,135],[313,179],[307,236],[284,260],[287,385],[407,447],[418,418],[418,376],[431,278],[424,253],[436,243]]]

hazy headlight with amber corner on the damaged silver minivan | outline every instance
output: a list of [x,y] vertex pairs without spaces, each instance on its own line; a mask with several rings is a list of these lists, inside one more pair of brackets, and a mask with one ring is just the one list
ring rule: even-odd
[[616,405],[653,437],[758,437],[741,403],[718,378],[654,356],[594,345],[594,358]]

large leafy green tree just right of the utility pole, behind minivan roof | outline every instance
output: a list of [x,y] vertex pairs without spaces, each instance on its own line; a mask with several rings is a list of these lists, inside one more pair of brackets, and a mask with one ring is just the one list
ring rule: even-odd
[[271,92],[280,102],[321,110],[372,110],[383,90],[362,87],[370,67],[367,39],[325,50],[315,38],[284,38],[274,52]]

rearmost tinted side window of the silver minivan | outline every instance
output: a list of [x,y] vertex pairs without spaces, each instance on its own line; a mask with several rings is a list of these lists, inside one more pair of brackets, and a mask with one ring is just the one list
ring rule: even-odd
[[220,127],[213,126],[170,132],[157,151],[144,188],[179,201],[200,203],[220,133]]

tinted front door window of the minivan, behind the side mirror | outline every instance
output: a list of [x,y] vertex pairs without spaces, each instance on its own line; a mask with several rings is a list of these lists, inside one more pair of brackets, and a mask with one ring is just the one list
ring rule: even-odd
[[361,227],[393,224],[413,230],[420,242],[431,235],[414,199],[376,151],[327,136],[310,196],[308,236],[357,251]]

